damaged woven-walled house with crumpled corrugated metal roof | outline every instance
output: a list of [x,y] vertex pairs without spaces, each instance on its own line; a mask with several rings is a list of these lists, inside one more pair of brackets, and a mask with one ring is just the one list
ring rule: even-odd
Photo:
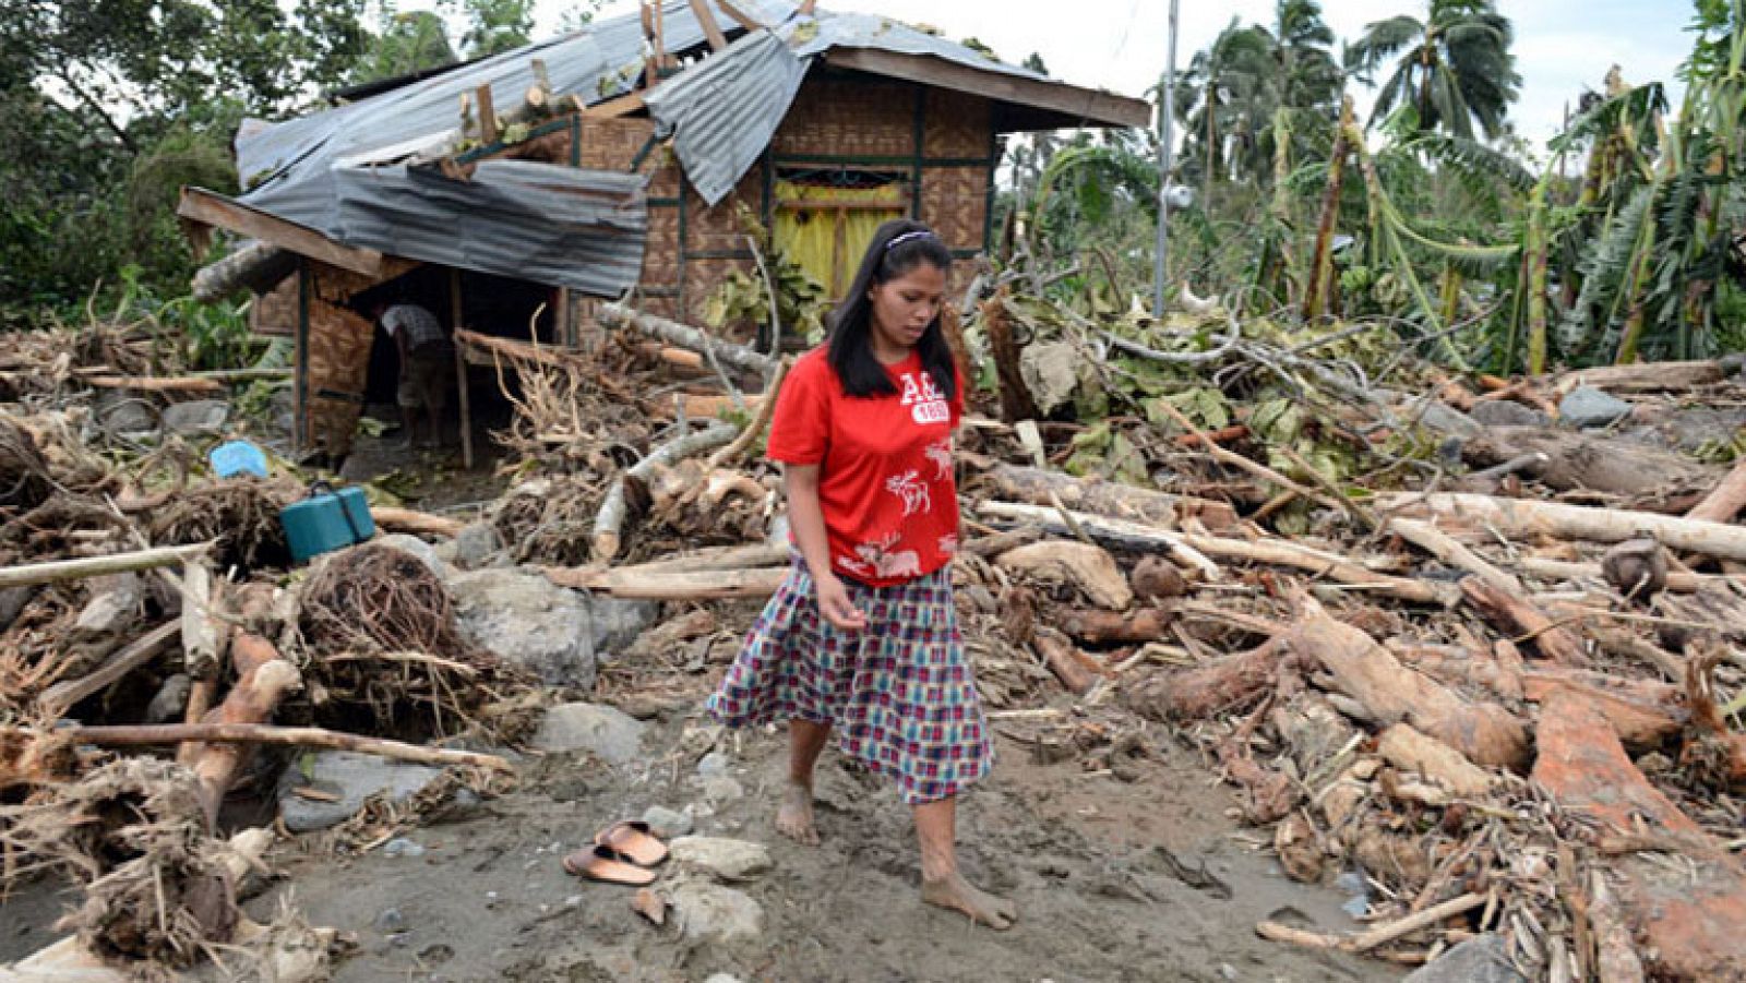
[[361,313],[372,299],[566,346],[602,299],[695,323],[730,271],[754,271],[742,210],[838,295],[887,218],[983,253],[1002,134],[1149,119],[1140,100],[878,16],[669,0],[250,120],[243,194],[185,189],[178,213],[197,243],[251,239],[196,295],[257,293],[255,332],[295,339],[299,447],[344,454],[377,389],[372,353],[393,347]]

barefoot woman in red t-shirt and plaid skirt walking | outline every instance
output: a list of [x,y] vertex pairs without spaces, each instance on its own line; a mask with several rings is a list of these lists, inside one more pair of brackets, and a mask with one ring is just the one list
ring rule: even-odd
[[964,880],[955,850],[955,796],[993,751],[952,604],[964,382],[939,327],[950,265],[925,225],[880,225],[829,344],[787,374],[768,456],[798,557],[709,711],[789,721],[777,829],[801,843],[819,842],[812,770],[835,730],[915,808],[922,899],[1006,929],[1013,904]]

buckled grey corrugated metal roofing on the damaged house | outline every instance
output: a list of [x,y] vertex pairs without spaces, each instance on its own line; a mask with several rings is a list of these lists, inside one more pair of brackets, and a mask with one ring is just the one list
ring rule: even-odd
[[[667,0],[660,16],[662,44],[676,54],[712,33],[719,42],[716,24],[740,35],[644,98],[711,204],[765,152],[821,61],[985,96],[1004,131],[1149,119],[1140,100],[1055,82],[885,17],[808,16],[786,0]],[[623,293],[648,239],[639,178],[534,161],[482,161],[470,175],[442,164],[461,150],[463,98],[480,87],[499,107],[520,105],[538,61],[552,93],[592,107],[632,94],[644,58],[643,19],[632,14],[309,117],[248,120],[236,147],[246,190],[236,203],[354,250]]]

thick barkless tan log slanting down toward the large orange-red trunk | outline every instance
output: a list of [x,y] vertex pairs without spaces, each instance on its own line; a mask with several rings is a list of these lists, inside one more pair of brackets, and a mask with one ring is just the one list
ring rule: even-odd
[[1337,690],[1385,725],[1411,723],[1479,765],[1528,763],[1528,732],[1498,704],[1474,704],[1400,665],[1371,636],[1329,616],[1313,599],[1287,636],[1292,651],[1318,660]]

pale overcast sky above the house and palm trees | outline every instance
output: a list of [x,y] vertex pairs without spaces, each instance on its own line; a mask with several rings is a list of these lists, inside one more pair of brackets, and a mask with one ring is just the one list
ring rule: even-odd
[[[1041,52],[1049,72],[1079,86],[1142,96],[1165,68],[1168,0],[824,0],[831,10],[885,14],[927,23],[946,37],[976,37],[1004,61]],[[540,33],[555,31],[564,0],[540,0]],[[1395,14],[1425,16],[1426,0],[1323,0],[1323,16],[1341,40]],[[1536,148],[1563,120],[1564,105],[1620,65],[1627,82],[1662,80],[1674,89],[1674,68],[1690,54],[1685,26],[1690,0],[1500,0],[1516,23],[1516,65],[1523,98],[1512,110],[1517,129]],[[601,16],[636,12],[634,0],[613,0]],[[1182,0],[1177,63],[1187,65],[1231,17],[1269,23],[1273,0]],[[1336,49],[1337,51],[1337,49]],[[1364,100],[1360,96],[1362,103]]]

